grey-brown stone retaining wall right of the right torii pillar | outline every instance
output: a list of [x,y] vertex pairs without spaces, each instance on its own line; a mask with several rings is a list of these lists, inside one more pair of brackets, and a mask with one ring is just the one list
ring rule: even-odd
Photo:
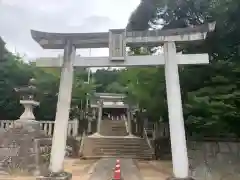
[[[170,154],[169,140],[162,141],[162,159]],[[240,141],[237,140],[189,140],[188,156],[190,175],[196,180],[239,180],[240,179]],[[157,152],[157,150],[156,150]],[[170,156],[171,157],[171,156]]]

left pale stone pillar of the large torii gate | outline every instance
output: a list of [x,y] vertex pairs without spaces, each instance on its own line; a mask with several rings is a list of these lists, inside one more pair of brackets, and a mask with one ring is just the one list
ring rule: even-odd
[[75,52],[75,47],[72,45],[71,41],[68,40],[64,48],[64,60],[61,71],[50,159],[50,171],[56,174],[63,171],[63,161],[67,141],[67,127],[71,105],[73,61],[75,58]]

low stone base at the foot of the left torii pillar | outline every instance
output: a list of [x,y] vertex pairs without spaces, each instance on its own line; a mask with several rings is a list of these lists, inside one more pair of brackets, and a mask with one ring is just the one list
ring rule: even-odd
[[67,172],[62,173],[49,173],[45,176],[38,176],[37,180],[71,180],[72,174]]

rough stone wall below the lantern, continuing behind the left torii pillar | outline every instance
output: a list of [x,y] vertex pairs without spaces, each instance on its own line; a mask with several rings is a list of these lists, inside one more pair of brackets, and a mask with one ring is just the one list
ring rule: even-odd
[[[0,129],[0,174],[42,174],[48,170],[52,138],[24,126]],[[66,156],[77,157],[79,141],[68,137]]]

